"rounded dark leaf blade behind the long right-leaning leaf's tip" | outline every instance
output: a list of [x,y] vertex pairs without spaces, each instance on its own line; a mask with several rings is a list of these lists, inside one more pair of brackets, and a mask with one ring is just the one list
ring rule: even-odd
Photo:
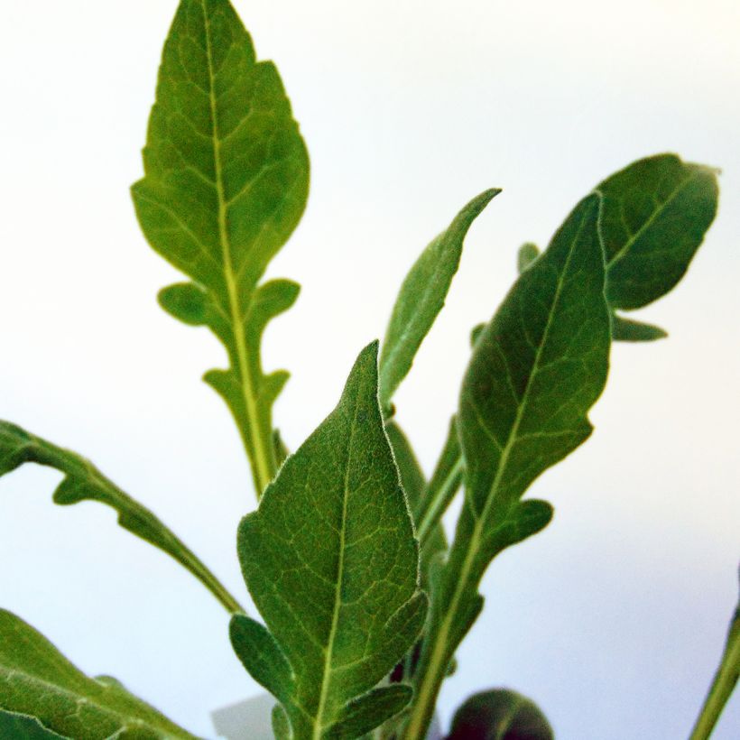
[[658,154],[633,162],[601,194],[606,298],[639,309],[680,281],[717,213],[717,170]]

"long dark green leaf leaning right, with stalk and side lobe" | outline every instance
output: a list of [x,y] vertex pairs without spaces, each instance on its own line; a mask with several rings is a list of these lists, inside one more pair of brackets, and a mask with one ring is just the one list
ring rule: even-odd
[[549,504],[520,500],[527,487],[591,433],[610,345],[598,209],[597,195],[578,204],[476,342],[458,413],[465,505],[432,601],[406,740],[429,726],[444,671],[482,606],[488,564],[550,521]]

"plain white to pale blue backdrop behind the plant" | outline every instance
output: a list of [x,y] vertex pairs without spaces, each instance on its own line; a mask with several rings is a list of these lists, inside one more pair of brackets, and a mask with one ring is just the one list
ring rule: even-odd
[[[178,275],[145,244],[128,186],[175,0],[0,0],[0,417],[97,463],[245,598],[254,506],[236,430],[199,376],[224,363],[155,302]],[[467,239],[448,306],[397,396],[427,472],[468,330],[577,201],[638,157],[722,168],[688,276],[617,346],[596,432],[541,477],[550,527],[486,574],[486,609],[440,698],[530,695],[563,740],[680,738],[717,665],[740,556],[740,5],[735,0],[236,0],[276,61],[309,146],[309,208],[270,274],[301,282],[264,361],[292,378],[292,449],[384,331],[407,268],[468,199],[503,187]],[[80,668],[193,732],[257,693],[198,582],[98,504],[51,504],[59,475],[0,480],[0,605]],[[450,525],[452,520],[450,520]],[[253,611],[254,614],[254,611]],[[740,735],[740,698],[717,740]]]

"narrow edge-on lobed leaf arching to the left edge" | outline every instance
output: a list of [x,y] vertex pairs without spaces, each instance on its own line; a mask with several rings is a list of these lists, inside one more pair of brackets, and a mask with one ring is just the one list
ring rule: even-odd
[[106,478],[89,460],[69,449],[52,445],[15,424],[0,421],[0,476],[24,463],[53,467],[64,474],[54,491],[55,504],[97,501],[110,506],[118,513],[118,523],[125,530],[163,550],[190,570],[229,612],[242,611],[236,599],[177,535],[149,509]]

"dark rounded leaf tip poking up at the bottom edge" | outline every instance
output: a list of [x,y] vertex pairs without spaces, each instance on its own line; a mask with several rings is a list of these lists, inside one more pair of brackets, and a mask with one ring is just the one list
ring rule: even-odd
[[481,691],[455,712],[447,740],[553,740],[532,699],[511,689]]

